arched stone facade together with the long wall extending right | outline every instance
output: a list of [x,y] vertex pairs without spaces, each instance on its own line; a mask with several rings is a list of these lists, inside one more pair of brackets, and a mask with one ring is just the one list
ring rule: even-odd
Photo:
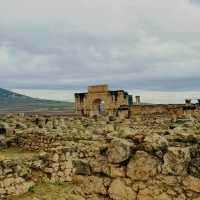
[[200,100],[192,103],[186,99],[184,104],[148,104],[142,103],[140,96],[132,95],[124,90],[110,91],[108,85],[89,86],[87,93],[75,94],[75,111],[81,116],[118,116],[134,118],[137,115],[171,115],[174,117],[200,114]]

